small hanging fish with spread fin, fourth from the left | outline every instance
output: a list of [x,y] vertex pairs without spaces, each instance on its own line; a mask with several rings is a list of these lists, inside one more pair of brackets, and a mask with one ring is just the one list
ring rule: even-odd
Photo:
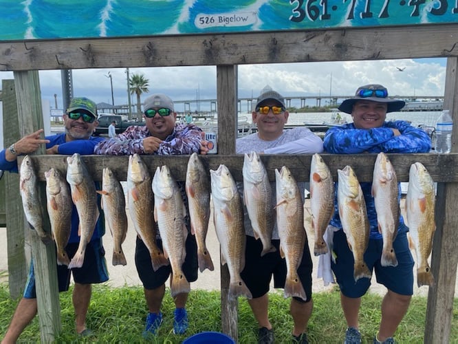
[[127,235],[127,214],[126,198],[122,185],[109,167],[103,169],[102,191],[97,191],[102,195],[102,209],[105,213],[105,221],[113,238],[113,258],[111,264],[127,265],[127,259],[122,251],[122,243]]

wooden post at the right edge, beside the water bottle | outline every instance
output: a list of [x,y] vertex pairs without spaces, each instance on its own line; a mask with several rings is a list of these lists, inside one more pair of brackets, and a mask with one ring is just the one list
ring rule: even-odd
[[[452,153],[458,152],[458,58],[447,59],[444,109],[450,109],[453,122]],[[433,241],[431,270],[435,286],[428,290],[424,343],[447,344],[455,296],[458,264],[458,183],[438,183],[435,208],[436,232]]]

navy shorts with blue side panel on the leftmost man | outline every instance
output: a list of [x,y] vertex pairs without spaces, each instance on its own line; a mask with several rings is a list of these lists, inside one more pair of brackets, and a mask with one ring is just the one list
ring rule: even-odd
[[[73,257],[78,250],[79,243],[70,243],[65,247],[69,257]],[[105,261],[105,249],[102,246],[102,238],[89,241],[85,252],[85,260],[81,268],[69,270],[66,265],[57,266],[57,283],[59,292],[65,292],[70,286],[70,274],[80,284],[93,284],[108,281],[107,261]],[[25,283],[23,293],[25,299],[36,299],[34,262],[30,262],[30,270]]]

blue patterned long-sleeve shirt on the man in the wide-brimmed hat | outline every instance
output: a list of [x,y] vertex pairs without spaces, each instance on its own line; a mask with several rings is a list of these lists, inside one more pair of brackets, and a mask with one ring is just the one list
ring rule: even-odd
[[[400,131],[400,136],[395,136],[392,129]],[[329,129],[323,140],[325,151],[336,154],[355,154],[355,153],[427,153],[431,149],[431,140],[428,134],[421,129],[412,127],[403,120],[384,122],[382,127],[373,129],[357,129],[353,123],[332,127]],[[334,197],[334,217],[330,224],[342,229],[342,223],[338,214],[337,189]],[[382,239],[378,231],[377,213],[375,203],[371,195],[372,183],[360,183],[364,201],[366,202],[367,216],[371,226],[371,239]],[[400,189],[400,186],[398,186]],[[399,193],[401,195],[401,192]],[[399,196],[399,201],[400,202]],[[408,228],[404,224],[404,219],[400,215],[398,232],[406,231]]]

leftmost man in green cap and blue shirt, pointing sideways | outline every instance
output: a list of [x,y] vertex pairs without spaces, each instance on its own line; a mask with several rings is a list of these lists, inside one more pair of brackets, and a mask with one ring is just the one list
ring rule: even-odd
[[[92,137],[92,133],[98,125],[96,103],[84,97],[73,98],[69,108],[63,115],[63,119],[65,133],[46,136],[43,139],[41,138],[43,129],[39,129],[14,142],[7,149],[0,151],[0,169],[18,172],[17,156],[33,153],[41,144],[46,144],[47,154],[92,154],[96,144],[103,140],[103,138]],[[72,229],[69,244],[65,248],[70,258],[75,254],[80,241],[78,225],[78,213],[76,207],[73,206]],[[59,291],[68,290],[70,273],[72,272],[75,281],[73,304],[76,314],[76,332],[82,336],[91,334],[91,331],[86,328],[86,314],[91,300],[91,284],[108,280],[107,264],[102,246],[102,235],[104,234],[105,219],[100,216],[94,229],[94,235],[87,245],[83,266],[72,270],[69,270],[65,265],[57,266]],[[36,313],[37,305],[32,261],[23,298],[17,305],[10,327],[8,327],[8,331],[1,343],[16,343],[25,327],[34,319]]]

